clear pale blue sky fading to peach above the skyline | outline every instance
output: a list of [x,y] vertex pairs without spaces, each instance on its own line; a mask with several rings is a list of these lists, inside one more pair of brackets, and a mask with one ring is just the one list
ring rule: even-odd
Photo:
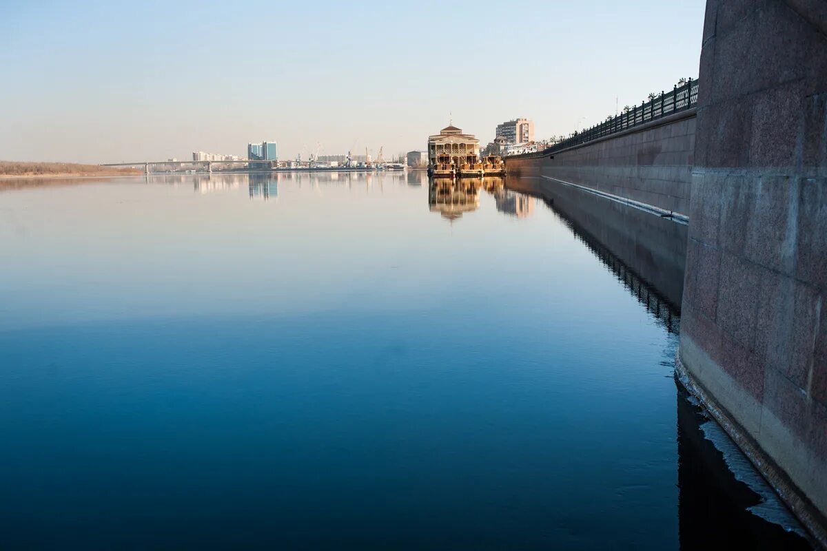
[[697,78],[704,0],[0,0],[0,159],[117,163],[568,135]]

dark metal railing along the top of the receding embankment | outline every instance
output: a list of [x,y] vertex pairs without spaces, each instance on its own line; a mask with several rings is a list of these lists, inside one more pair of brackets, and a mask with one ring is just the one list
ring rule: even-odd
[[664,116],[672,115],[672,113],[685,111],[690,107],[695,107],[697,102],[698,81],[690,78],[686,81],[686,84],[682,86],[676,84],[672,92],[661,92],[659,96],[653,97],[648,102],[642,102],[639,106],[629,109],[628,112],[620,113],[618,116],[613,116],[600,124],[586,128],[583,131],[575,132],[574,135],[566,138],[566,140],[559,141],[543,151],[514,155],[514,157],[540,157],[545,154],[566,150],[573,145],[585,144],[587,141],[617,134],[628,128],[642,125],[645,122],[654,121]]

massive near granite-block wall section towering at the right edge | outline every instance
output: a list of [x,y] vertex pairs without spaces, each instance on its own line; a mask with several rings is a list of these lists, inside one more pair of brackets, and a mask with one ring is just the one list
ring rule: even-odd
[[680,365],[827,544],[827,7],[708,0]]

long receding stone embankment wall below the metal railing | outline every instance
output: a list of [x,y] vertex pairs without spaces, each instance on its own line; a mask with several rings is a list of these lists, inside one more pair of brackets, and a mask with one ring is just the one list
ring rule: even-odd
[[506,169],[510,175],[541,174],[686,214],[695,118],[693,108],[542,159],[506,159]]

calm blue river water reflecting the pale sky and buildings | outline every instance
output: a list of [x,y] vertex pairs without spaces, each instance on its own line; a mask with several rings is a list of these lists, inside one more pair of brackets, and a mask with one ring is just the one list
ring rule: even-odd
[[0,258],[2,549],[805,547],[676,307],[497,183],[0,183]]

